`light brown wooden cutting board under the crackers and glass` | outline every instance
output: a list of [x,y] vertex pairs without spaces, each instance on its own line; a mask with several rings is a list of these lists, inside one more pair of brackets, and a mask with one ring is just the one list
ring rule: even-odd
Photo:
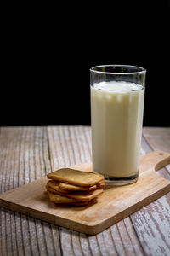
[[[0,206],[71,230],[95,235],[170,191],[170,181],[156,170],[170,163],[167,152],[151,152],[141,157],[139,181],[122,187],[106,185],[97,203],[86,207],[59,206],[48,201],[47,177],[0,195]],[[71,166],[91,171],[91,163]]]

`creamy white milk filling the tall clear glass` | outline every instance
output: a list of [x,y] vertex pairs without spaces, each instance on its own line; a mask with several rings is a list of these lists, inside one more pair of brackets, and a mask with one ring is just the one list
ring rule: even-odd
[[94,172],[129,177],[139,171],[144,87],[128,82],[91,86]]

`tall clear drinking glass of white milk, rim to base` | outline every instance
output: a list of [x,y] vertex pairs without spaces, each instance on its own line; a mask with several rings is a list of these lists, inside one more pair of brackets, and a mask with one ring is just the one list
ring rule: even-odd
[[145,74],[126,65],[90,69],[93,170],[114,185],[139,177]]

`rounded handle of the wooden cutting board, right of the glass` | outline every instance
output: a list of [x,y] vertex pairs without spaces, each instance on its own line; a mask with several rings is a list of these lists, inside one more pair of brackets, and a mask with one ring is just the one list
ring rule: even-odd
[[140,158],[140,173],[150,168],[155,171],[170,164],[170,153],[164,151],[152,151]]

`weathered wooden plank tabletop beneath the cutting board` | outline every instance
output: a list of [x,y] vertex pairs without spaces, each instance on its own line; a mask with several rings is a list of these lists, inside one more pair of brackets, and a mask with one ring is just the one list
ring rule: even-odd
[[[0,192],[91,160],[88,126],[1,127]],[[144,128],[141,154],[170,152],[170,128]],[[158,171],[170,179],[170,166]],[[1,208],[0,255],[170,255],[170,193],[96,236]]]

